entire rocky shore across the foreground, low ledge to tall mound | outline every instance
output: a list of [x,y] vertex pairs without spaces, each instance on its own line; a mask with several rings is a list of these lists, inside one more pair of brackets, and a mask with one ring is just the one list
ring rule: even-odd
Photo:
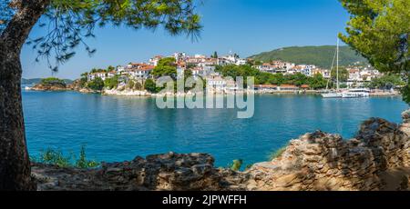
[[372,118],[354,139],[317,131],[246,172],[214,167],[210,154],[157,154],[81,170],[33,164],[38,190],[410,190],[410,111],[403,124]]

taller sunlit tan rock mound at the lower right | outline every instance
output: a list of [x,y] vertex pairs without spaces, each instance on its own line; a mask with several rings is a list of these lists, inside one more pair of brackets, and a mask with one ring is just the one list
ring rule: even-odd
[[247,188],[382,190],[388,184],[382,177],[386,172],[410,167],[410,132],[404,119],[397,125],[372,118],[347,141],[320,131],[305,134],[272,162],[254,164],[247,172],[251,174]]

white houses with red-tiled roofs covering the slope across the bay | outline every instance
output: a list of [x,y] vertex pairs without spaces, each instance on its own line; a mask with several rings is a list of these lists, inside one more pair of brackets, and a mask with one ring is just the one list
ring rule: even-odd
[[[147,80],[155,80],[156,77],[152,75],[152,71],[159,65],[161,59],[173,58],[173,66],[176,67],[176,78],[183,77],[187,71],[194,79],[202,78],[206,81],[208,91],[216,93],[227,93],[238,90],[239,86],[235,84],[232,79],[223,76],[218,72],[218,67],[228,65],[251,65],[253,69],[257,69],[261,73],[271,75],[305,75],[306,77],[313,77],[321,75],[324,80],[332,80],[331,69],[325,69],[316,65],[296,65],[290,62],[280,60],[269,63],[253,62],[251,59],[241,58],[237,54],[230,53],[229,55],[218,56],[217,53],[211,56],[206,55],[187,55],[186,53],[175,53],[169,56],[156,55],[150,58],[147,62],[142,63],[128,63],[128,65],[118,65],[116,67],[108,67],[108,70],[93,70],[87,74],[87,82],[92,82],[96,78],[102,81],[117,77],[118,86],[126,86],[129,81],[133,85],[138,84],[137,90],[142,90]],[[333,68],[335,70],[335,67]],[[342,69],[341,69],[342,71]],[[350,65],[343,67],[347,75],[343,81],[344,87],[364,87],[370,84],[375,78],[382,76],[377,70],[370,65]],[[324,88],[324,86],[322,86]],[[327,87],[327,86],[326,86]],[[255,84],[255,90],[260,92],[266,91],[306,91],[313,89],[308,84]],[[315,89],[317,90],[317,89]]]

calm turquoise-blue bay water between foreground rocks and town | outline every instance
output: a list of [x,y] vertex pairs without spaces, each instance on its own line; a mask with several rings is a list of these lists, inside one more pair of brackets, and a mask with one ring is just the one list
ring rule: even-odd
[[401,122],[401,98],[322,99],[313,95],[257,95],[251,119],[232,109],[158,109],[152,98],[23,92],[30,154],[46,148],[113,162],[137,155],[203,152],[224,166],[268,159],[299,135],[322,129],[351,137],[372,116]]

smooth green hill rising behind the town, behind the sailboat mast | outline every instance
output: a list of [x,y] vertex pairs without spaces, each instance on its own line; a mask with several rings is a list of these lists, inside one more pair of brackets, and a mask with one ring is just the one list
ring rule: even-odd
[[[292,46],[252,55],[249,58],[262,62],[282,60],[297,65],[306,64],[330,68],[335,49],[335,45]],[[367,64],[366,59],[361,55],[357,55],[349,46],[340,46],[339,53],[339,65],[353,65],[356,62]]]

